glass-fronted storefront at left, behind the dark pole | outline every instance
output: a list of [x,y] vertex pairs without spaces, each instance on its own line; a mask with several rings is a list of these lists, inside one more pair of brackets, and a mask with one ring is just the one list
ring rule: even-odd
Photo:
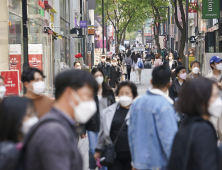
[[[22,72],[23,44],[22,44],[22,0],[9,0],[9,69]],[[53,0],[27,0],[28,9],[28,43],[29,65],[43,70],[46,75],[46,91],[53,95],[54,77],[54,37],[53,32]],[[51,31],[46,31],[49,28]],[[19,49],[20,48],[20,49]],[[15,58],[13,55],[17,55]],[[17,65],[15,67],[15,64]],[[21,77],[20,77],[21,78]],[[22,92],[22,89],[21,89]]]

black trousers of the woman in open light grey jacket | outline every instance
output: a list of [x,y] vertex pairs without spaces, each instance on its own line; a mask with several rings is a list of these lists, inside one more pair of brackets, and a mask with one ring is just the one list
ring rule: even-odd
[[132,170],[130,151],[116,152],[116,160],[108,170]]

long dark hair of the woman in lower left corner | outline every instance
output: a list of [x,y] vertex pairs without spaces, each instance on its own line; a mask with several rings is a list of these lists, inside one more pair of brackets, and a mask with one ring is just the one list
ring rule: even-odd
[[5,97],[0,104],[0,142],[18,142],[20,127],[28,107],[33,107],[25,97]]

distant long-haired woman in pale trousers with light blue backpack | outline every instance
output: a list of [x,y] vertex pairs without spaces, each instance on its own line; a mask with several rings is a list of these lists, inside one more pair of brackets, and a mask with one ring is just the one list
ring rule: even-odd
[[[142,67],[140,64],[142,63]],[[144,69],[143,60],[141,59],[141,55],[139,53],[133,59],[133,69],[136,72],[136,83],[141,83],[141,73],[142,69]]]

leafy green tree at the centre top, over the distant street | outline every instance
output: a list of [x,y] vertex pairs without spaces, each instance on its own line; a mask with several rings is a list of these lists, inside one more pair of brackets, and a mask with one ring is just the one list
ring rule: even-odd
[[[102,14],[102,0],[96,0],[97,12]],[[116,52],[124,39],[126,30],[134,30],[149,17],[149,8],[138,0],[104,0],[104,11],[107,21],[114,27]]]

